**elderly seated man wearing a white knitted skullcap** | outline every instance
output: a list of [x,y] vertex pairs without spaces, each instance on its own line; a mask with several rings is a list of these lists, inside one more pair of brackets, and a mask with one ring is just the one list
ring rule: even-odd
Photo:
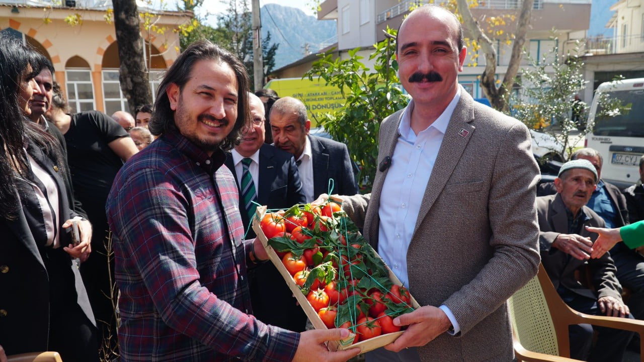
[[[621,300],[617,269],[609,253],[589,259],[596,234],[585,226],[604,227],[602,218],[585,206],[598,180],[588,160],[566,162],[554,180],[556,195],[536,198],[539,220],[541,262],[562,300],[574,310],[587,314],[629,317]],[[588,263],[595,291],[581,285],[575,271]],[[584,361],[621,361],[632,333],[596,327],[597,343],[591,348],[592,327],[571,326],[571,357]],[[588,356],[590,351],[590,355]],[[586,359],[589,357],[589,359]]]

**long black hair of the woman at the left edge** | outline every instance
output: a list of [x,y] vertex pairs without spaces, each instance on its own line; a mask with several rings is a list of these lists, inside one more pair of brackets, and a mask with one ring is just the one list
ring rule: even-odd
[[15,218],[20,205],[15,191],[22,190],[15,176],[30,172],[23,151],[25,138],[59,160],[53,148],[55,139],[24,117],[18,100],[21,77],[27,67],[32,66],[30,78],[40,73],[36,58],[35,52],[21,41],[0,33],[0,216],[7,219]]

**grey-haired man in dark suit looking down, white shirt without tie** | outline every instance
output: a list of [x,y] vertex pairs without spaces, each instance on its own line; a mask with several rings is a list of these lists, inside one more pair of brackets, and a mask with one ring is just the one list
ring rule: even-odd
[[[270,108],[270,129],[275,147],[295,157],[307,202],[329,191],[355,195],[358,189],[346,145],[309,135],[310,128],[307,108],[300,100],[280,98]],[[333,189],[329,190],[331,179]]]

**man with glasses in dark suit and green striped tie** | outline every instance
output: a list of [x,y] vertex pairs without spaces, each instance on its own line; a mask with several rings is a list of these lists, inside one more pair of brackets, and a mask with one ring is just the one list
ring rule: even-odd
[[[239,186],[246,238],[255,236],[249,227],[255,213],[254,202],[269,209],[288,209],[305,202],[293,156],[264,143],[264,106],[252,93],[249,110],[252,126],[225,161]],[[296,332],[305,329],[306,315],[272,263],[249,270],[249,289],[253,314],[258,319]]]

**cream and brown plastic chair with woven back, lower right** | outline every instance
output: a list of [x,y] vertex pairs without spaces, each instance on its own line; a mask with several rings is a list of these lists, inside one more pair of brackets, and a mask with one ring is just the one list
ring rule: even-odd
[[[630,330],[644,337],[644,321],[591,316],[568,307],[541,264],[535,278],[509,298],[508,310],[517,361],[578,361],[569,358],[568,326],[574,324]],[[644,338],[640,338],[639,356],[644,362]]]

